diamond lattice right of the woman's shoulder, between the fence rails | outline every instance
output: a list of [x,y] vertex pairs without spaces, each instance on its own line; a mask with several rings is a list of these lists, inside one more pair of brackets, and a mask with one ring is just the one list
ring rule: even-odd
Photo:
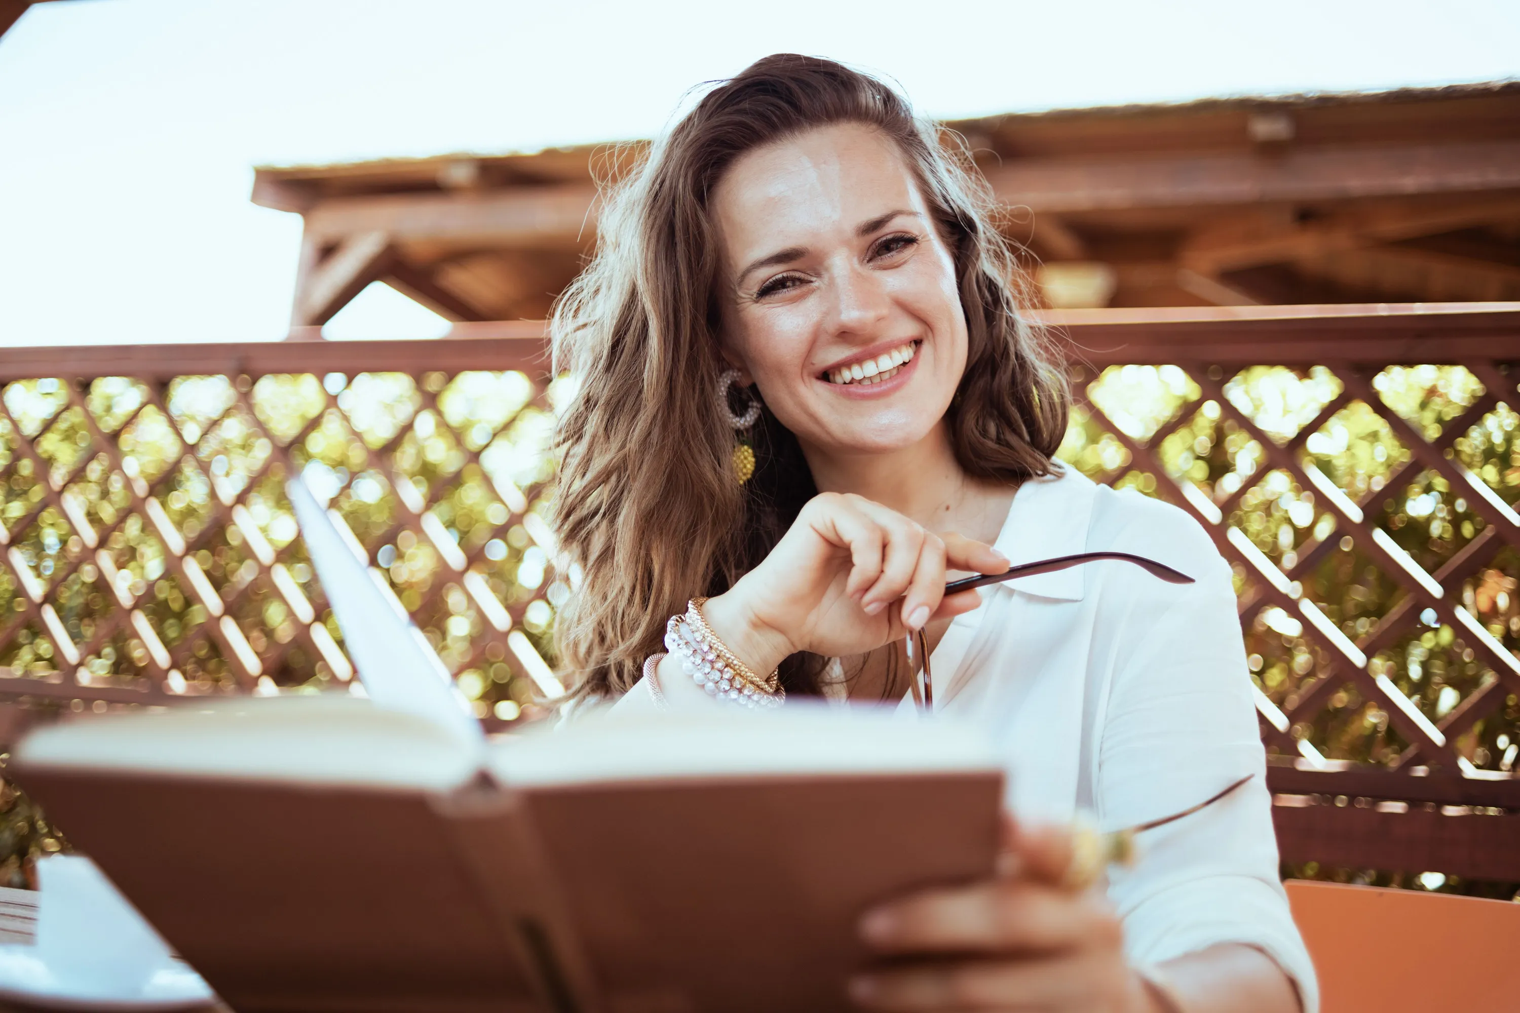
[[1520,422],[1490,363],[1076,372],[1062,456],[1233,563],[1269,752],[1512,772]]

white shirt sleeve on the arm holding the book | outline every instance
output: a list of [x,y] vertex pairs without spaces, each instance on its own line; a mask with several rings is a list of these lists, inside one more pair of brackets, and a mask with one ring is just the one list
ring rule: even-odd
[[[1186,557],[1198,583],[1104,603],[1116,661],[1094,758],[1097,820],[1104,829],[1135,826],[1196,805],[1246,773],[1256,778],[1207,809],[1142,834],[1137,863],[1113,875],[1108,893],[1135,963],[1246,943],[1283,967],[1304,1013],[1315,1013],[1315,969],[1278,878],[1230,568],[1190,518],[1161,527],[1170,551],[1160,557]],[[1154,542],[1146,548],[1157,554]]]

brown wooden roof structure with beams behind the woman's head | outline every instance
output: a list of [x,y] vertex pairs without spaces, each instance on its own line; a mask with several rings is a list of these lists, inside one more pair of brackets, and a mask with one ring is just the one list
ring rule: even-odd
[[[1520,299],[1520,82],[1210,99],[945,125],[1061,307]],[[641,143],[261,167],[304,217],[293,323],[371,281],[453,320],[541,319]]]

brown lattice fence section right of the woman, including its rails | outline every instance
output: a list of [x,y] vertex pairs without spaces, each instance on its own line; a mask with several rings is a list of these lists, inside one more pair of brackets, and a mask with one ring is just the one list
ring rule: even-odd
[[1515,308],[1070,328],[1062,456],[1234,565],[1292,861],[1520,881]]

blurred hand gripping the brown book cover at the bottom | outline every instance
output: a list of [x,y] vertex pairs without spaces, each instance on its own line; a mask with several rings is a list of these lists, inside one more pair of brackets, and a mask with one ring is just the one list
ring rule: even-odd
[[854,978],[851,998],[892,1011],[1155,1010],[1107,899],[1066,884],[1072,834],[1009,825],[1006,837],[999,878],[866,913],[862,939],[889,963]]

